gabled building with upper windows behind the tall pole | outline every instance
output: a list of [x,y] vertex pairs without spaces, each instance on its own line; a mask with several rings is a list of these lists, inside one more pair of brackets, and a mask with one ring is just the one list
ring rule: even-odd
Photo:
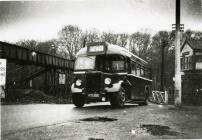
[[202,40],[181,47],[182,102],[202,105]]

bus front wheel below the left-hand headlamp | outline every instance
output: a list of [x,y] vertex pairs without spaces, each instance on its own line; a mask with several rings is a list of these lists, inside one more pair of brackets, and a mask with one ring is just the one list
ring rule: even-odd
[[72,102],[76,107],[83,107],[83,105],[85,104],[85,97],[81,94],[73,94]]

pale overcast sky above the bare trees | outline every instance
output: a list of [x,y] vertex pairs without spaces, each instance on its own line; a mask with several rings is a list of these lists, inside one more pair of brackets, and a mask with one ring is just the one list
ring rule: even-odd
[[[181,0],[181,23],[202,31],[202,0]],[[171,30],[175,0],[0,1],[0,40],[44,41],[68,24],[132,33]]]

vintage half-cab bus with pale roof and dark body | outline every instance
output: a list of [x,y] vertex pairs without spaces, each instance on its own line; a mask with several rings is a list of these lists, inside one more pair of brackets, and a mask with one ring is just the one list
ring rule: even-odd
[[77,107],[91,101],[110,101],[118,108],[126,102],[147,105],[151,84],[143,59],[107,42],[89,43],[76,55],[72,101]]

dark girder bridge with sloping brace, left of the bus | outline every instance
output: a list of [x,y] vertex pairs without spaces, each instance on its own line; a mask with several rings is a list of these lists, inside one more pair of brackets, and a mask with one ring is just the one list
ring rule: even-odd
[[34,88],[68,96],[73,60],[1,41],[0,58],[7,60],[6,89]]

